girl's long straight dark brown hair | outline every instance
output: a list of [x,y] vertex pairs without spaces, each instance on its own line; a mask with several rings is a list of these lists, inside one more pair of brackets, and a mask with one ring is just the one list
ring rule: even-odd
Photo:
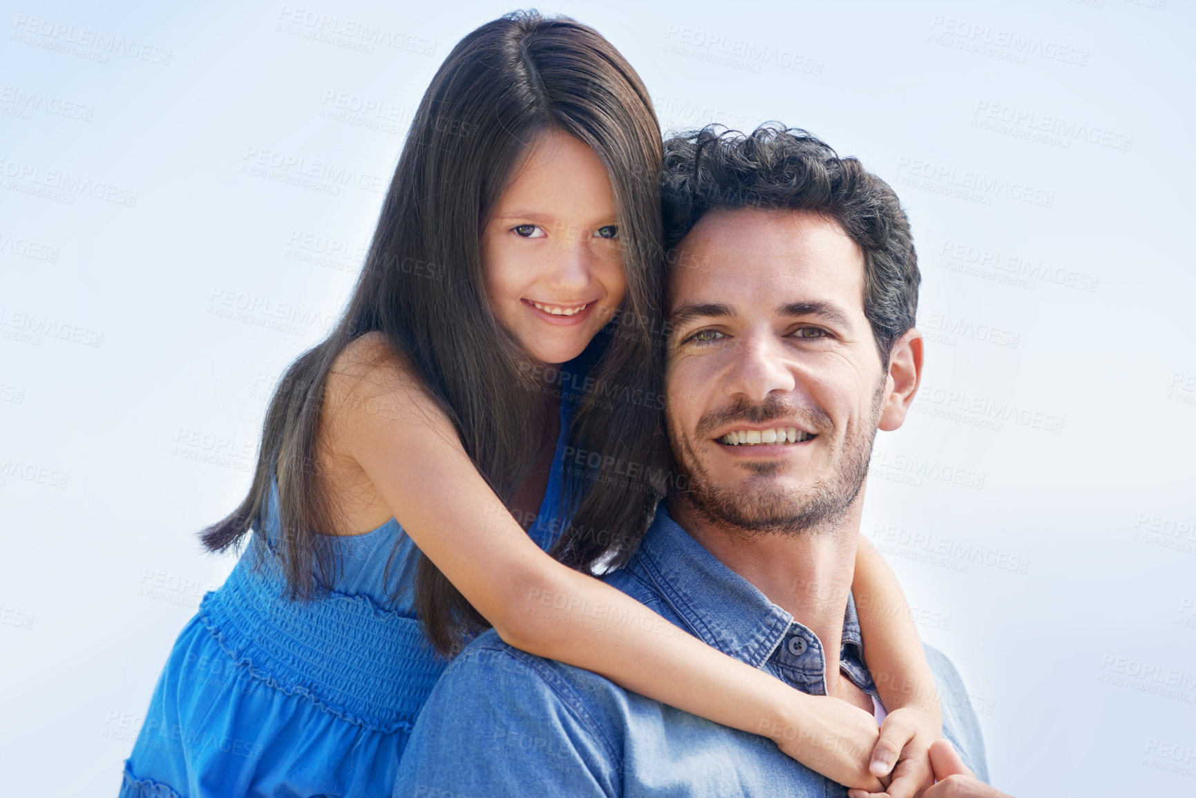
[[[593,383],[568,434],[590,467],[567,470],[566,504],[575,512],[551,554],[580,569],[626,561],[659,498],[654,475],[665,464],[660,128],[648,92],[610,42],[572,19],[536,12],[482,25],[432,79],[344,316],[276,386],[249,495],[203,530],[209,550],[239,548],[263,518],[276,475],[289,597],[310,599],[317,580],[331,584],[340,564],[323,534],[335,513],[317,457],[321,407],[332,361],[374,330],[422,378],[478,473],[509,506],[544,444],[527,409],[545,389],[535,377],[544,370],[532,367],[541,364],[495,321],[480,240],[526,146],[550,129],[581,140],[605,165],[627,275],[621,311],[586,351]],[[488,626],[422,553],[415,602],[441,653]]]

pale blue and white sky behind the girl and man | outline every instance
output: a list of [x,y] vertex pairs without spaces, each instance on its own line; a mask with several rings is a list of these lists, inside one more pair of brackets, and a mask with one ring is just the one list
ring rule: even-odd
[[[195,531],[340,312],[433,72],[511,8],[2,4],[0,792],[115,792],[232,566]],[[606,35],[666,128],[781,120],[892,182],[930,343],[864,530],[997,786],[1196,792],[1191,5],[542,10]]]

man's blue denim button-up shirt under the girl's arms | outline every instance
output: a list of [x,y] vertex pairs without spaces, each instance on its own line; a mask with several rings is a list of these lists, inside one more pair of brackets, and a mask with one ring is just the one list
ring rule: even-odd
[[[822,642],[731,571],[664,505],[627,567],[604,580],[710,646],[810,694],[825,695]],[[550,608],[550,605],[549,605]],[[621,619],[588,611],[593,645]],[[605,631],[597,631],[605,629]],[[875,695],[848,599],[842,670]],[[926,648],[942,696],[942,735],[988,780],[976,715],[950,660]],[[447,668],[399,762],[395,796],[846,796],[841,785],[742,732],[512,648],[490,629]]]

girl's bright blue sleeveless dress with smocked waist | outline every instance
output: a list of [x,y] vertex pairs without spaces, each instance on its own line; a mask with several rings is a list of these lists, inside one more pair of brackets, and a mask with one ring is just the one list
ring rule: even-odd
[[[562,459],[579,398],[562,388],[561,433],[527,532],[543,549],[563,529]],[[342,567],[330,592],[289,602],[271,556],[276,483],[261,526],[249,546],[268,547],[267,567],[255,573],[246,550],[183,627],[124,761],[121,798],[390,798],[415,718],[447,665],[415,616],[417,549],[393,518],[331,538]],[[399,585],[399,601],[389,601]]]

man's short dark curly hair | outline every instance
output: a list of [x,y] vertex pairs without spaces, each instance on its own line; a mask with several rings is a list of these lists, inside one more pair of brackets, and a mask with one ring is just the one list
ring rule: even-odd
[[708,211],[810,211],[838,223],[864,251],[864,315],[889,368],[892,346],[914,327],[917,269],[897,195],[855,158],[800,128],[764,124],[750,135],[707,126],[665,141],[665,240],[677,246]]

